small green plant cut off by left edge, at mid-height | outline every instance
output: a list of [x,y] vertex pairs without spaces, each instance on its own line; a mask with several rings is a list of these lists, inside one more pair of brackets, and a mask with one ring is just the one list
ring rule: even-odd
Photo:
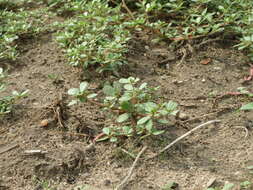
[[[6,73],[3,71],[2,68],[0,68],[0,93],[5,91],[6,89],[6,83],[4,82],[5,78],[6,78]],[[13,104],[20,98],[27,96],[27,93],[28,93],[28,90],[23,91],[23,92],[13,91],[12,95],[1,96],[0,97],[0,116],[10,113],[12,110]]]

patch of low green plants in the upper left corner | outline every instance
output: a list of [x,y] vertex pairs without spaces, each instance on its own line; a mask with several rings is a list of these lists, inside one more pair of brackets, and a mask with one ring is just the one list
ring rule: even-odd
[[18,56],[17,40],[46,30],[44,23],[50,15],[47,9],[35,11],[0,9],[0,60],[15,60]]

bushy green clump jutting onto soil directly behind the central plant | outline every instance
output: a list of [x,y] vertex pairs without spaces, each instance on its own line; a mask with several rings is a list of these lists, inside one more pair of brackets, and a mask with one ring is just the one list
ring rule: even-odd
[[130,39],[119,7],[109,7],[102,0],[81,2],[85,2],[82,14],[57,24],[63,28],[56,35],[57,42],[71,65],[84,69],[93,66],[98,72],[116,71],[125,63]]

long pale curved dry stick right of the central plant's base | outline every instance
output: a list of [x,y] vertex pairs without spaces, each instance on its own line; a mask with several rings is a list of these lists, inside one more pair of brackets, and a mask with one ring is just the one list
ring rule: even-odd
[[206,123],[203,123],[195,128],[193,128],[192,130],[188,131],[187,133],[185,133],[184,135],[178,137],[176,140],[174,140],[172,143],[170,143],[169,145],[167,145],[165,148],[163,148],[161,151],[159,151],[157,154],[155,154],[154,156],[148,158],[148,159],[153,159],[157,156],[159,156],[161,153],[163,153],[164,151],[168,150],[170,147],[172,147],[174,144],[176,144],[178,141],[182,140],[183,138],[189,136],[190,134],[192,134],[194,131],[200,129],[201,127],[204,127],[206,125],[210,125],[212,123],[218,123],[218,122],[221,122],[220,120],[211,120],[211,121],[208,121]]

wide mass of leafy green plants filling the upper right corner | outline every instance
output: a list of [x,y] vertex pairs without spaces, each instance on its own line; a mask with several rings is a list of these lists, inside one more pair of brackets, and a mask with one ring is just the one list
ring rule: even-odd
[[143,0],[136,5],[136,20],[145,19],[144,26],[162,39],[177,42],[211,36],[236,37],[239,43],[235,47],[245,49],[253,60],[250,0]]

